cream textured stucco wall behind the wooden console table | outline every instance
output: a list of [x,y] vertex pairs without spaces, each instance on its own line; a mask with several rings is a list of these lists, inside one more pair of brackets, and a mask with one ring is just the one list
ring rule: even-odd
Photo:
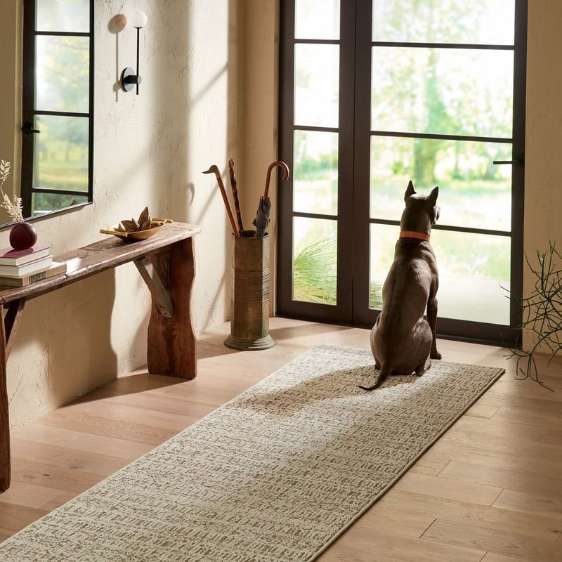
[[[110,25],[136,9],[148,15],[139,96],[116,87],[122,68],[135,64],[136,33],[129,26],[115,34]],[[230,308],[226,215],[216,183],[201,171],[240,156],[239,20],[233,0],[96,0],[94,204],[35,223],[55,254],[99,240],[100,227],[146,204],[152,214],[199,223],[197,331],[228,318]],[[0,127],[2,137],[10,132]],[[0,244],[7,238],[4,230]],[[11,424],[143,365],[149,303],[132,264],[27,303],[8,362]]]

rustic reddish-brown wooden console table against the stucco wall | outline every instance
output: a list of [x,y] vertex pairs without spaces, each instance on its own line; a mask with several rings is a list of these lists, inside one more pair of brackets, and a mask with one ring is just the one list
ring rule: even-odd
[[195,277],[193,236],[199,226],[166,224],[147,240],[124,242],[108,237],[89,246],[55,256],[67,263],[67,273],[27,287],[0,287],[0,492],[10,486],[10,421],[6,391],[6,362],[25,301],[90,275],[133,261],[152,295],[148,325],[148,371],[193,379],[197,374],[195,334],[190,297]]

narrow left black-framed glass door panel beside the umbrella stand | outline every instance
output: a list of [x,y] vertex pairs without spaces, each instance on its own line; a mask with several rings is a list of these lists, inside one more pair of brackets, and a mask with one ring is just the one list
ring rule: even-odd
[[280,152],[292,178],[279,198],[277,308],[349,322],[355,10],[339,0],[287,1],[281,9],[290,39],[282,41]]

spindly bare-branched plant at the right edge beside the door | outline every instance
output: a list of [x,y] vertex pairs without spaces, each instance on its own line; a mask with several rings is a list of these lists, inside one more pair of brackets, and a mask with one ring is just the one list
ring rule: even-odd
[[535,277],[535,289],[521,299],[513,294],[509,296],[521,304],[521,328],[531,332],[533,343],[528,350],[512,348],[507,358],[517,358],[517,378],[530,378],[545,388],[549,387],[539,380],[534,355],[540,348],[548,348],[549,364],[562,349],[562,268],[558,266],[558,260],[562,260],[562,255],[552,242],[549,242],[547,251],[537,250],[537,266],[525,254],[525,262]]

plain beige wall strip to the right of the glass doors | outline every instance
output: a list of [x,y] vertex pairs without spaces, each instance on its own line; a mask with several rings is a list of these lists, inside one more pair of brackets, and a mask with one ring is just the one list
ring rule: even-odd
[[[529,2],[524,248],[531,258],[536,249],[545,251],[549,240],[562,248],[561,27],[562,2]],[[534,285],[525,266],[523,292],[530,294]],[[529,333],[523,334],[524,348],[531,341]]]

